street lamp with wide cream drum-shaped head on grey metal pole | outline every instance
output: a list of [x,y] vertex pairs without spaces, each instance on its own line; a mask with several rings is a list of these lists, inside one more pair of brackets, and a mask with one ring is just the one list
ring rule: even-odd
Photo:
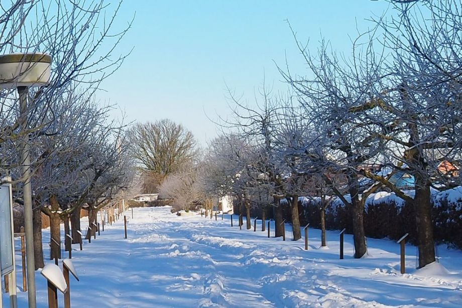
[[[41,53],[9,54],[0,56],[0,87],[18,90],[22,131],[28,130],[27,94],[29,87],[45,86],[50,80],[51,56]],[[20,164],[24,179],[24,227],[29,307],[37,306],[35,291],[34,230],[32,225],[31,161],[28,134],[21,138]]]

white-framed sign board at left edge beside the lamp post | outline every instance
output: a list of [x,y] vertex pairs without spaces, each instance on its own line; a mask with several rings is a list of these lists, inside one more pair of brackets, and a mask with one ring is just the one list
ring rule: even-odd
[[15,269],[13,247],[13,204],[11,185],[0,185],[0,272],[2,275]]

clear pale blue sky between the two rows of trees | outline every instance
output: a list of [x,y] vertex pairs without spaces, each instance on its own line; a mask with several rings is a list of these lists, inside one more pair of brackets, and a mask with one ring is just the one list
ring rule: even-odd
[[134,50],[98,99],[117,103],[129,121],[182,123],[205,144],[217,134],[207,115],[229,114],[225,85],[252,104],[263,78],[274,92],[287,89],[275,63],[287,58],[293,72],[304,73],[286,20],[310,49],[322,34],[348,54],[357,28],[366,30],[365,19],[387,8],[383,0],[126,0],[114,29],[136,14],[118,48]]

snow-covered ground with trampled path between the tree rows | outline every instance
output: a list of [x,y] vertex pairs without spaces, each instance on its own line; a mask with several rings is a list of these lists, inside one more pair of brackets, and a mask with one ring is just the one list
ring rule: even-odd
[[[218,221],[178,217],[169,207],[138,208],[83,251],[74,245],[80,282],[71,277],[73,307],[459,307],[462,303],[462,252],[437,249],[439,262],[415,270],[416,248],[406,246],[408,273],[399,273],[399,245],[368,239],[369,255],[354,259],[352,236],[345,236],[345,259],[338,259],[338,232],[320,231],[303,240],[267,238],[261,232]],[[84,220],[82,220],[84,221]],[[85,225],[82,225],[82,229]],[[274,225],[272,226],[272,231]],[[49,239],[44,231],[44,242]],[[47,245],[44,245],[44,247]],[[45,250],[46,254],[48,250]],[[21,264],[20,259],[17,259]],[[52,261],[47,261],[52,262]],[[61,262],[60,262],[61,266]],[[444,267],[442,267],[444,266]],[[18,284],[21,280],[18,272]],[[37,271],[37,300],[47,307],[45,279]],[[20,291],[21,288],[18,288]],[[4,296],[4,304],[8,299]],[[19,307],[27,293],[19,292]],[[62,295],[59,305],[63,306]]]

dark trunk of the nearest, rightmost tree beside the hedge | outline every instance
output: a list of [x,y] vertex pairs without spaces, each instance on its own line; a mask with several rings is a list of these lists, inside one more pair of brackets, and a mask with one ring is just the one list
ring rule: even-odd
[[419,268],[435,261],[435,243],[431,222],[430,186],[415,176],[414,209],[419,247]]

